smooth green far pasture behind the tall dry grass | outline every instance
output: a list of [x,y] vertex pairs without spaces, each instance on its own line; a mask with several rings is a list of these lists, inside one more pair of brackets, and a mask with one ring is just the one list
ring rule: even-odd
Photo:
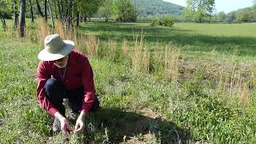
[[182,47],[184,58],[209,58],[217,52],[218,59],[229,59],[238,47],[236,61],[254,60],[254,23],[244,24],[195,24],[176,23],[174,28],[152,27],[149,23],[89,22],[80,26],[81,34],[94,34],[102,40],[123,38],[134,42],[134,36],[145,34],[146,48],[155,49],[156,42],[174,42]]

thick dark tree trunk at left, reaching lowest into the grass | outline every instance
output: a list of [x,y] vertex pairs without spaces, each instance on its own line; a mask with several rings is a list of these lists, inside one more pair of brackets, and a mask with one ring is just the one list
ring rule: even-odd
[[20,26],[20,33],[22,38],[25,36],[25,13],[26,13],[26,0],[21,0],[19,26]]

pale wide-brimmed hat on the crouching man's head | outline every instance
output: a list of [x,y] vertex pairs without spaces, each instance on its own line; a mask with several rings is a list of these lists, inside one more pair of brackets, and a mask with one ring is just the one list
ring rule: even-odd
[[45,48],[39,52],[42,61],[54,61],[65,57],[74,49],[74,42],[63,40],[59,34],[51,34],[45,38]]

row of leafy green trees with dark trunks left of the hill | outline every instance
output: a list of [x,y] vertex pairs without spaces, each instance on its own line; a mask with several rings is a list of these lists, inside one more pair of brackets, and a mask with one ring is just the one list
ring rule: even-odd
[[34,22],[34,18],[44,18],[65,22],[68,26],[78,26],[86,22],[94,14],[100,14],[106,19],[114,16],[117,21],[128,22],[136,20],[136,9],[130,0],[0,0],[0,19],[4,29],[6,18],[14,19],[14,29],[19,28],[24,36],[26,15]]

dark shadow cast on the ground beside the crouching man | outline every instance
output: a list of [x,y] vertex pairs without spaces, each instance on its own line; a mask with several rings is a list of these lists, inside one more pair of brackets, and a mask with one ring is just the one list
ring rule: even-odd
[[[161,143],[187,143],[191,140],[189,130],[178,127],[173,122],[158,117],[146,107],[139,113],[126,112],[118,108],[99,108],[88,114],[86,123],[98,130],[107,130],[110,143],[148,142],[154,139]],[[90,133],[88,128],[86,133]]]

